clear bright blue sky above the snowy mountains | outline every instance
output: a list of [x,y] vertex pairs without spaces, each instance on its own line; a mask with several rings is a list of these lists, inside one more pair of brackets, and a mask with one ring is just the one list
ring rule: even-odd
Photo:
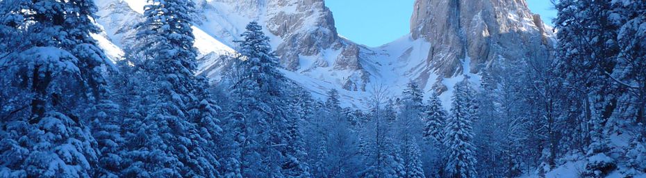
[[[408,34],[414,0],[325,0],[339,34],[378,47]],[[549,0],[527,0],[532,13],[552,24],[556,11]]]

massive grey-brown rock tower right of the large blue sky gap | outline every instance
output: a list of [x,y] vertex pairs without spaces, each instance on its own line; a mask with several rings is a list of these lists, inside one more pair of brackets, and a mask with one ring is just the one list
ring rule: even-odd
[[503,58],[549,58],[552,32],[524,0],[417,0],[411,35],[431,42],[428,58],[443,76],[461,74]]

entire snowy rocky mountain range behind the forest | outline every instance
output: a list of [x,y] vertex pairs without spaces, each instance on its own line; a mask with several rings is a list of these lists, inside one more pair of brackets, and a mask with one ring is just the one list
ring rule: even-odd
[[[97,38],[105,38],[99,40],[101,46],[119,58],[136,42],[134,25],[141,20],[145,1],[95,1],[105,32]],[[426,92],[443,92],[442,100],[448,103],[461,74],[469,74],[477,84],[479,76],[471,72],[477,73],[481,64],[497,58],[549,56],[552,42],[548,28],[529,13],[524,1],[517,0],[485,0],[479,6],[487,8],[479,13],[464,13],[470,9],[459,8],[473,6],[470,0],[457,5],[444,0],[417,1],[411,34],[375,48],[340,37],[323,0],[194,1],[199,73],[220,79],[227,63],[219,56],[234,53],[233,41],[240,38],[246,24],[257,21],[265,26],[286,76],[315,97],[336,88],[345,106],[357,108],[367,106],[373,86],[387,86],[392,95],[398,95],[408,81],[420,83]],[[448,15],[455,13],[459,15]],[[433,27],[438,21],[450,28]],[[472,33],[481,35],[465,35]]]

